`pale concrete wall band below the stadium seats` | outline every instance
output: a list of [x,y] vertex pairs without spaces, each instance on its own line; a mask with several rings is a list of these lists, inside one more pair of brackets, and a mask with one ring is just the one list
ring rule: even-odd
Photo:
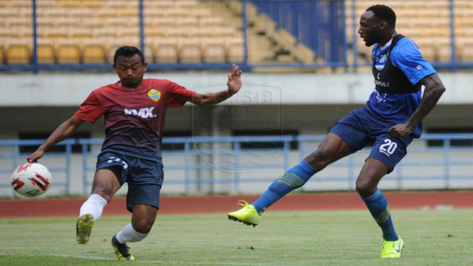
[[[197,92],[226,89],[224,72],[147,73],[145,78],[165,78]],[[447,93],[440,104],[472,104],[473,76],[440,73]],[[77,106],[98,87],[117,82],[115,73],[0,74],[0,106]],[[313,73],[244,73],[242,90],[229,105],[358,105],[373,92],[370,73],[316,75]],[[271,97],[264,97],[270,92]],[[260,98],[258,98],[260,96]],[[263,96],[263,97],[262,97]]]

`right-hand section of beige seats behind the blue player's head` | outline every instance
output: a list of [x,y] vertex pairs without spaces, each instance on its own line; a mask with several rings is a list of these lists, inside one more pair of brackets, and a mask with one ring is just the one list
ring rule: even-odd
[[[351,19],[351,1],[346,1],[347,38],[353,43],[353,21]],[[356,23],[368,6],[378,4],[376,1],[356,1]],[[395,11],[399,33],[413,38],[422,55],[427,60],[447,62],[452,57],[450,31],[449,1],[389,1],[388,5]],[[473,1],[455,1],[455,48],[456,59],[471,61],[473,43]],[[435,18],[435,19],[432,19]],[[357,40],[358,55],[361,60],[370,60],[371,48],[366,48],[363,41]]]

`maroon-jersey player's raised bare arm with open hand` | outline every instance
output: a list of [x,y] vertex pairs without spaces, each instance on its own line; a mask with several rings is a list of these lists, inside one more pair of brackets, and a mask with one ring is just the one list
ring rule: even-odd
[[192,102],[198,106],[210,106],[223,102],[235,95],[235,93],[237,93],[241,88],[241,70],[238,68],[238,65],[232,65],[232,73],[228,74],[227,86],[228,90],[223,90],[221,92],[205,94],[196,93]]

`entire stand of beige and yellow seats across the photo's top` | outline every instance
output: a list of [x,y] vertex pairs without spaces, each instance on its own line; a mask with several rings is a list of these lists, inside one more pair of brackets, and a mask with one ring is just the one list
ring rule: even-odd
[[[346,36],[368,62],[371,48],[354,36],[352,1],[346,1]],[[356,20],[376,1],[356,1]],[[39,63],[110,63],[119,44],[139,45],[138,1],[37,1]],[[400,33],[413,38],[425,58],[452,57],[449,1],[389,1]],[[455,1],[456,59],[473,59],[473,2]],[[1,63],[31,62],[31,1],[0,1]],[[144,1],[145,54],[150,63],[243,61],[239,1]],[[324,63],[289,31],[250,2],[249,63]],[[435,19],[432,19],[435,17]],[[403,19],[409,18],[409,19]],[[122,41],[120,41],[122,40]],[[124,41],[123,41],[124,40]],[[353,56],[349,61],[353,62]]]

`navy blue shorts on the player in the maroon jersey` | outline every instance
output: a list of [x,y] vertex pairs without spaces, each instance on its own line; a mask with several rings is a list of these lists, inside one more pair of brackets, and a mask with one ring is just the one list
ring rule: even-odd
[[121,169],[117,179],[122,186],[128,183],[127,210],[132,213],[133,204],[146,204],[159,209],[159,193],[164,181],[163,165],[124,152],[102,151],[97,157],[96,171],[110,166]]

